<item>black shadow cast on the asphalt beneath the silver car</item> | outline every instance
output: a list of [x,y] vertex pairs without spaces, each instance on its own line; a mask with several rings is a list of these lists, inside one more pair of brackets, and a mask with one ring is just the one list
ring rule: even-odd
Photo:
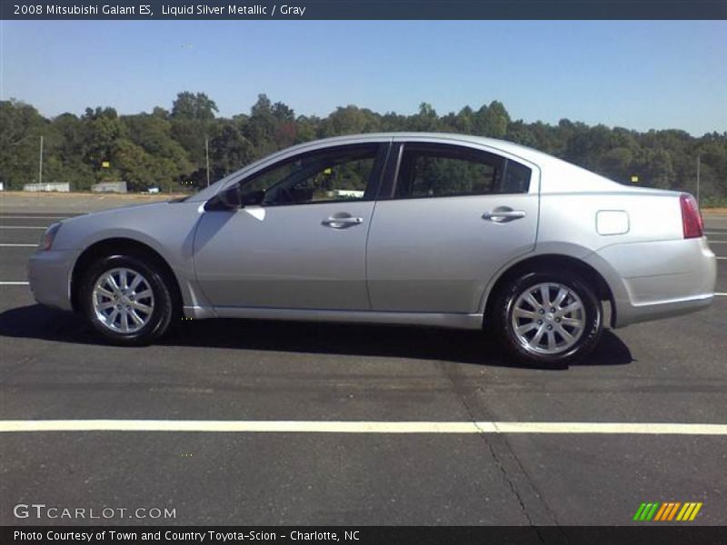
[[[0,313],[0,337],[103,344],[77,314],[37,304]],[[157,344],[553,369],[553,366],[513,362],[490,335],[482,332],[428,327],[224,319],[183,321]],[[612,366],[630,362],[632,354],[628,347],[607,330],[596,350],[578,365]]]

